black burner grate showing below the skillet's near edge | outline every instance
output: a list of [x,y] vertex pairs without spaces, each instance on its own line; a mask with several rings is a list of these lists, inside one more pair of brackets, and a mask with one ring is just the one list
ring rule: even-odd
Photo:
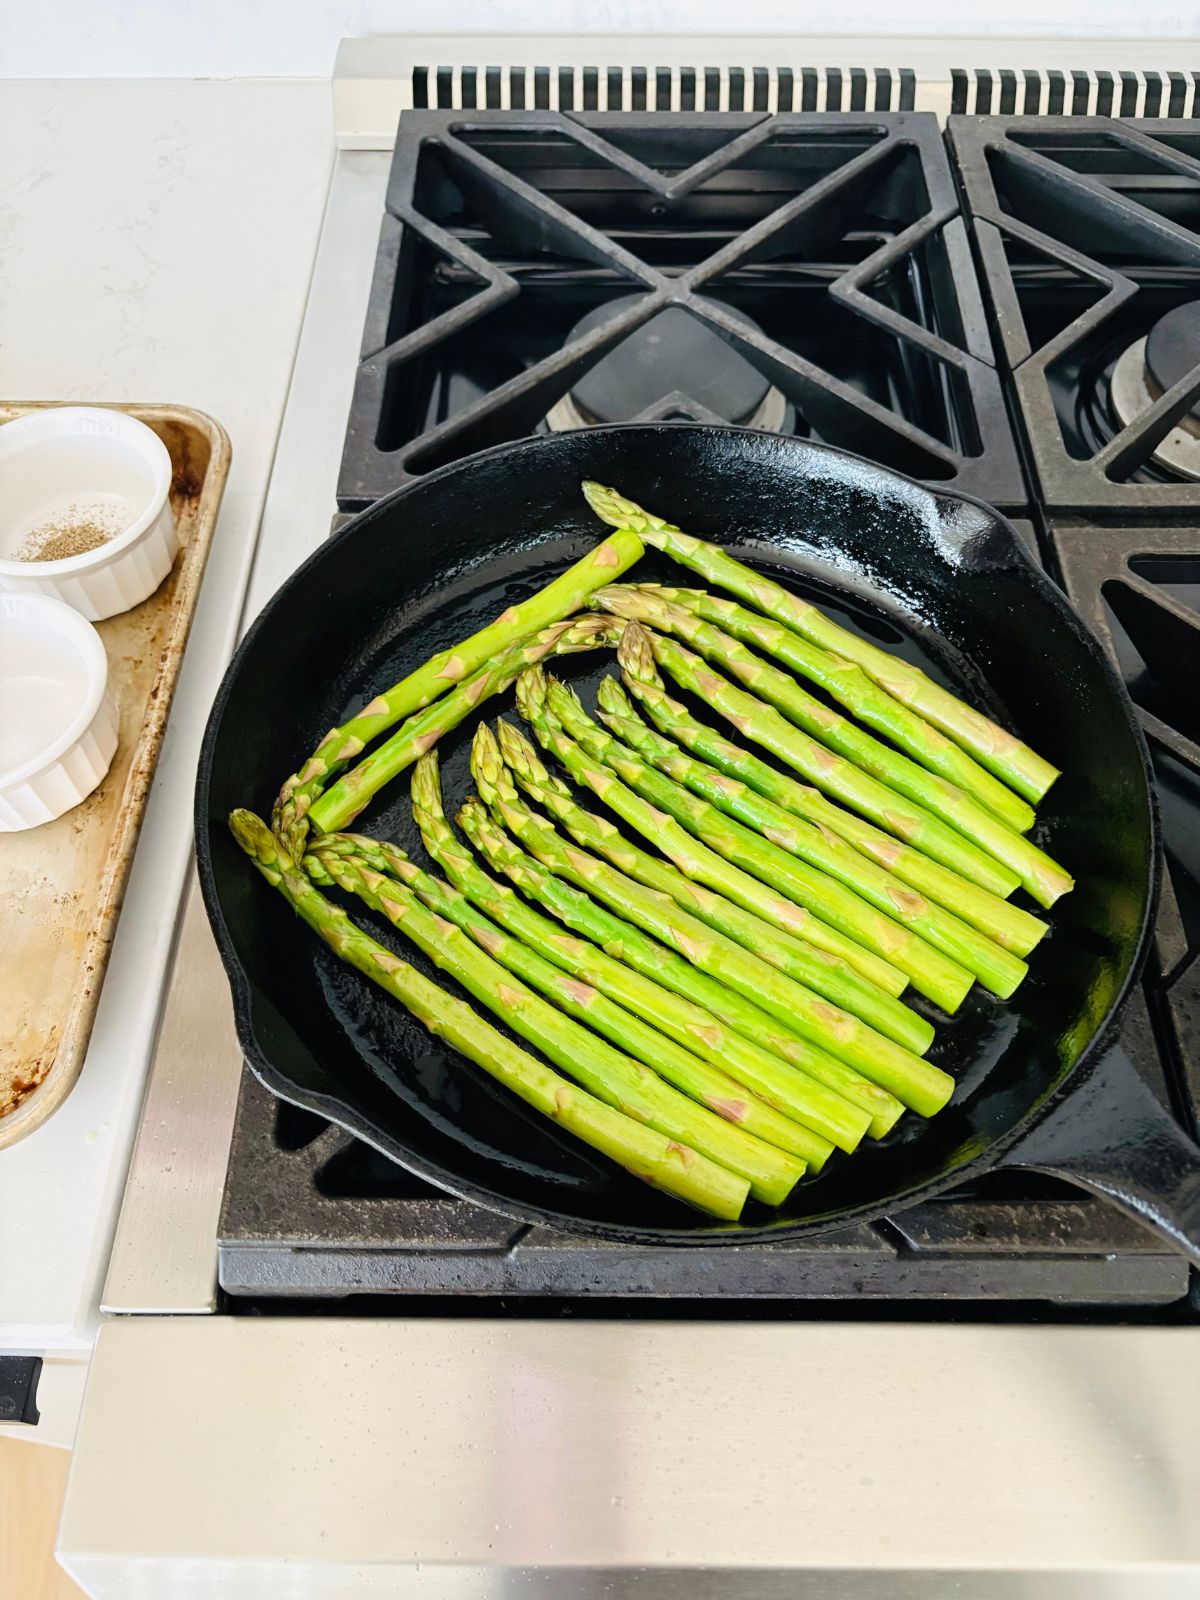
[[[1147,1054],[1134,1003],[1126,1046]],[[1154,1046],[1149,1050],[1154,1066]],[[1170,1306],[1187,1264],[1102,1200],[995,1178],[878,1224],[741,1250],[635,1250],[454,1200],[242,1082],[219,1227],[234,1298],[350,1294]],[[898,1314],[898,1307],[890,1307]]]

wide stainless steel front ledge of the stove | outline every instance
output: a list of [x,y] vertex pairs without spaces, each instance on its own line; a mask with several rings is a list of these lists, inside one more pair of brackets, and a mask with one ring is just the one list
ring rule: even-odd
[[880,1574],[915,1571],[922,1600],[982,1595],[962,1582],[981,1570],[1005,1600],[1069,1594],[1051,1573],[1090,1574],[1088,1600],[1170,1576],[1195,1594],[1194,1347],[1163,1328],[128,1318],[99,1338],[59,1550],[93,1595],[406,1594],[421,1573],[422,1595],[486,1600],[531,1568],[534,1594],[597,1600],[675,1597],[701,1570],[730,1597],[896,1597],[914,1590]]

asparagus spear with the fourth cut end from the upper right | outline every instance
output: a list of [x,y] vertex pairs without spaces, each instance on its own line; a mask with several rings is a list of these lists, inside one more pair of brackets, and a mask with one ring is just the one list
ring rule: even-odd
[[1019,878],[995,856],[979,850],[955,829],[925,806],[912,805],[902,795],[886,789],[853,762],[843,760],[824,744],[810,739],[773,706],[765,706],[754,694],[730,683],[715,667],[693,654],[669,634],[646,629],[646,638],[654,662],[688,693],[698,694],[707,706],[725,717],[739,733],[762,744],[771,755],[802,773],[818,789],[853,806],[890,834],[904,838],[926,854],[941,861],[954,872],[962,872],[973,883],[997,894],[1011,894]]

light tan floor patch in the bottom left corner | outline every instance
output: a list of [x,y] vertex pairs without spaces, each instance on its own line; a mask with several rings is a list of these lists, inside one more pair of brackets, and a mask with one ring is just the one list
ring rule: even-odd
[[0,1595],[77,1600],[83,1590],[54,1560],[70,1453],[0,1438]]

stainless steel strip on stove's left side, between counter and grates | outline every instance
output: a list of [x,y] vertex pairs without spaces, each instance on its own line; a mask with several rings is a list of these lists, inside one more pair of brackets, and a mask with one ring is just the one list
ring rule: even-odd
[[[366,152],[334,163],[243,624],[330,531],[387,170]],[[102,1310],[214,1310],[240,1078],[229,986],[192,874]]]

